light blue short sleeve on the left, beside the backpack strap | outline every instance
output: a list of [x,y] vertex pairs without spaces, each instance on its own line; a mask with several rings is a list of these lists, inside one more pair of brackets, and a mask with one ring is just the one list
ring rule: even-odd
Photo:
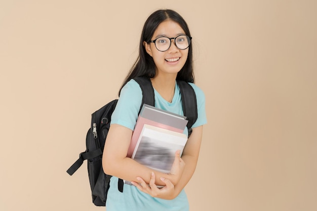
[[142,90],[132,79],[121,90],[120,98],[111,116],[111,124],[120,124],[133,131],[141,103]]

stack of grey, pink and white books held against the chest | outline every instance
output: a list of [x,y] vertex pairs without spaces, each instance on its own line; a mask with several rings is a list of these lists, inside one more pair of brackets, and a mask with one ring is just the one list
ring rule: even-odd
[[175,152],[183,152],[186,117],[144,104],[137,119],[128,157],[163,173],[169,173]]

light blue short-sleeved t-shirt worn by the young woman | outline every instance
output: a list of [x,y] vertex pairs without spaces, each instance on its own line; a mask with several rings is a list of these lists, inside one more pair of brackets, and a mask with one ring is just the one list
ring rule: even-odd
[[[207,123],[205,111],[205,95],[203,91],[193,83],[189,83],[196,94],[198,117],[192,128]],[[154,89],[155,107],[183,115],[181,94],[177,84],[172,103],[166,101]],[[120,98],[111,116],[111,124],[120,124],[134,130],[138,113],[142,102],[142,90],[135,80],[130,80],[122,89]],[[184,130],[187,134],[187,129]],[[139,191],[135,186],[124,185],[121,193],[117,187],[118,178],[112,177],[107,195],[107,211],[188,211],[188,200],[184,190],[173,200],[153,198]]]

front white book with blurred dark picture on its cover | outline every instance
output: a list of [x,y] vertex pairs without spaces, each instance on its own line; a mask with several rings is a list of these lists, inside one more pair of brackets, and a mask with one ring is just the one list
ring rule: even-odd
[[182,154],[187,136],[157,126],[144,124],[132,154],[132,159],[163,173],[170,173],[175,152]]

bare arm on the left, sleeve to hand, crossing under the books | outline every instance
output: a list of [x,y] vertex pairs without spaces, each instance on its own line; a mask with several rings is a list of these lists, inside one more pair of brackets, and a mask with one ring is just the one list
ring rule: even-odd
[[127,157],[132,133],[132,130],[125,126],[111,124],[102,156],[104,172],[107,175],[112,175],[127,181],[137,181],[137,177],[141,177],[147,184],[150,182],[151,172],[154,172],[156,185],[165,185],[165,183],[160,180],[161,177],[168,178],[173,184],[176,184],[181,177],[182,167],[176,167],[176,171],[173,174],[167,175],[153,171]]

